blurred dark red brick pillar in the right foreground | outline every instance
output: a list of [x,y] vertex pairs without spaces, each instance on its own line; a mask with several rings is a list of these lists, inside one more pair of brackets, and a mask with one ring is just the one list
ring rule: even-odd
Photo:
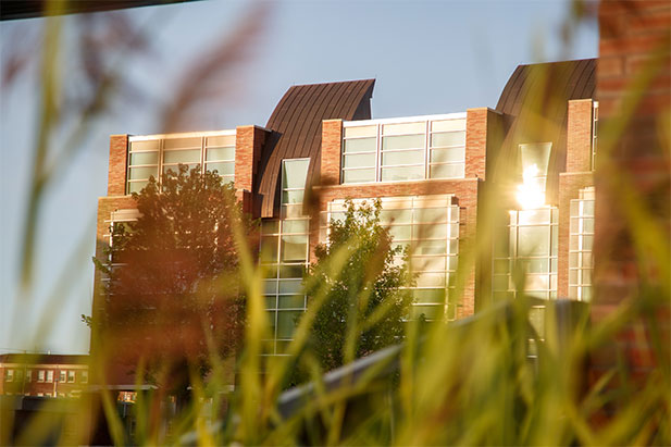
[[[611,349],[604,347],[593,356],[591,372],[596,378],[620,357],[630,373],[645,377],[657,365],[669,364],[671,335],[669,297],[664,296],[671,162],[669,134],[664,137],[662,131],[668,131],[671,108],[671,3],[601,2],[599,29],[592,319],[598,323],[620,306],[641,300],[645,306],[632,307],[631,312],[645,313],[627,322]],[[647,228],[642,231],[641,223]],[[661,357],[649,339],[651,325],[660,332]]]

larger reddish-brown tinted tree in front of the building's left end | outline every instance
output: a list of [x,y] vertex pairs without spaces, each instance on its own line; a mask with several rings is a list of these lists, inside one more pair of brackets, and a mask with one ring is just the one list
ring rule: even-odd
[[[112,226],[101,348],[119,364],[137,364],[167,388],[186,388],[189,374],[204,374],[214,358],[231,357],[244,328],[238,246],[234,226],[243,215],[235,190],[200,169],[151,178],[133,194],[140,216]],[[94,323],[96,323],[94,321]]]

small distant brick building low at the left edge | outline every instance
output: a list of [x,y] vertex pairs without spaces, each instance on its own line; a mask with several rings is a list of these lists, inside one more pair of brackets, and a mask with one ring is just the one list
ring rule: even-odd
[[0,355],[0,395],[78,397],[88,388],[88,356]]

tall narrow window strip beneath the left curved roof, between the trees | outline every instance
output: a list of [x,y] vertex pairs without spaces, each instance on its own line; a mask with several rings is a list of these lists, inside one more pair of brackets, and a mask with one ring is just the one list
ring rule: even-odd
[[282,218],[261,224],[261,263],[264,266],[265,308],[273,338],[271,355],[282,355],[306,310],[302,275],[308,266],[309,222],[302,201],[309,159],[284,160],[282,165]]

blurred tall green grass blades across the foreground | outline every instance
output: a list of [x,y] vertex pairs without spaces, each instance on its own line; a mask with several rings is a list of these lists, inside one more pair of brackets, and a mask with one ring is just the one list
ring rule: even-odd
[[[46,136],[53,132],[59,113],[53,98],[60,85],[55,69],[62,30],[58,20],[47,26],[42,46],[42,119],[34,151],[35,172],[22,257],[26,288],[35,281],[32,271],[37,214],[44,190],[53,178],[53,171],[46,167],[49,151]],[[244,40],[249,37],[245,33],[254,32],[245,28],[240,33]],[[215,51],[214,65],[235,60],[239,55],[236,48],[226,46]],[[207,77],[206,69],[211,65],[204,64],[198,76]],[[121,71],[121,66],[116,70]],[[589,324],[588,312],[583,312],[567,335],[556,325],[555,308],[548,306],[545,331],[539,334],[530,325],[530,299],[521,293],[514,301],[496,303],[467,323],[409,321],[397,356],[384,358],[357,377],[345,374],[339,386],[328,386],[324,382],[325,371],[320,369],[308,344],[311,324],[327,296],[325,285],[306,284],[316,293],[300,319],[288,355],[262,356],[263,340],[270,333],[262,295],[265,272],[257,262],[254,248],[248,246],[247,235],[237,227],[247,325],[244,349],[235,359],[222,358],[214,348],[215,343],[208,339],[212,372],[203,378],[196,368],[188,371],[192,397],[178,411],[171,409],[170,397],[160,389],[148,390],[138,393],[132,407],[133,417],[124,419],[119,413],[115,395],[102,390],[99,402],[94,402],[91,397],[67,403],[82,418],[75,427],[55,430],[71,419],[61,411],[63,401],[50,400],[16,440],[87,443],[89,427],[104,421],[112,440],[120,445],[184,442],[203,445],[670,445],[671,372],[669,364],[663,363],[669,340],[663,338],[657,319],[650,314],[656,303],[668,301],[671,290],[669,232],[651,211],[639,206],[643,200],[636,189],[609,162],[609,151],[657,70],[660,70],[659,60],[653,59],[632,80],[633,95],[624,104],[625,113],[604,126],[599,134],[599,169],[612,170],[613,182],[626,202],[626,224],[635,235],[634,248],[642,253],[639,262],[646,263],[653,257],[659,268],[659,274],[644,278],[636,296],[624,301],[609,318]],[[109,73],[105,79],[97,84],[90,108],[82,113],[83,129],[107,109],[108,84],[119,79],[119,73]],[[188,90],[177,97],[179,101],[195,104],[202,96],[207,95]],[[170,123],[179,122],[174,110],[166,112]],[[77,132],[69,139],[73,141],[72,147],[78,147],[85,131]],[[667,139],[662,145],[669,147],[668,133],[661,138]],[[483,234],[492,234],[489,229],[479,228]],[[490,240],[482,238],[464,249],[460,253],[462,265],[476,264],[489,244]],[[341,247],[323,268],[339,271],[353,249]],[[470,273],[461,268],[457,296]],[[524,289],[523,282],[520,275],[519,290]],[[662,363],[645,381],[633,376],[624,361],[598,377],[587,376],[589,357],[607,350],[620,331],[641,320],[647,323],[649,356]],[[530,339],[535,342],[537,360],[530,359]],[[311,393],[296,411],[283,415],[279,397],[298,359],[309,367]],[[92,363],[100,360],[92,359]],[[232,362],[237,377],[233,393],[223,378]],[[388,367],[394,367],[393,373],[388,373]],[[142,371],[144,365],[137,369]],[[104,377],[101,380],[104,383]],[[49,411],[51,408],[53,412]],[[51,413],[62,415],[47,415]],[[127,425],[129,420],[133,430]],[[7,443],[9,439],[0,438],[0,444]]]

